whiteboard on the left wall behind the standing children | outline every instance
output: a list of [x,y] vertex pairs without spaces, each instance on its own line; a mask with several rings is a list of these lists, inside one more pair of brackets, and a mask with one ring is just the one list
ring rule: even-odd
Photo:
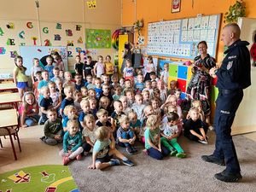
[[67,47],[53,47],[53,46],[20,46],[20,56],[23,58],[23,65],[27,68],[26,75],[30,76],[30,70],[33,67],[33,58],[39,60],[49,55],[52,50],[59,52],[62,61],[64,62],[65,70],[67,71]]

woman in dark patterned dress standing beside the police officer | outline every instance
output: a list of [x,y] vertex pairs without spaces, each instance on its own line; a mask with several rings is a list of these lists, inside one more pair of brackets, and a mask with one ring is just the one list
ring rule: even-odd
[[[207,42],[201,41],[197,44],[197,49],[201,53],[194,59],[193,75],[189,80],[188,89],[186,91],[185,101],[187,108],[193,100],[197,99],[201,101],[201,108],[205,114],[207,125],[213,130],[210,124],[210,96],[211,96],[211,76],[209,70],[212,67],[216,67],[215,59],[207,54]],[[185,109],[187,109],[185,108]]]

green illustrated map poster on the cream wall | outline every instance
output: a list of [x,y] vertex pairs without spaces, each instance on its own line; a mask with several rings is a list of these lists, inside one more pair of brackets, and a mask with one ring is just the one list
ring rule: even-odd
[[87,49],[110,49],[111,30],[86,29]]

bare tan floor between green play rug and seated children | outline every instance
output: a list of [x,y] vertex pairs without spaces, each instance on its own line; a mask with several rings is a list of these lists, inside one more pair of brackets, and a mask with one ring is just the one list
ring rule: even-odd
[[[59,148],[43,143],[39,139],[43,135],[44,125],[21,128],[19,137],[22,152],[19,151],[17,141],[15,141],[18,160],[15,160],[9,139],[2,137],[3,148],[0,148],[0,173],[26,166],[62,165]],[[256,141],[256,132],[247,133],[243,136]]]

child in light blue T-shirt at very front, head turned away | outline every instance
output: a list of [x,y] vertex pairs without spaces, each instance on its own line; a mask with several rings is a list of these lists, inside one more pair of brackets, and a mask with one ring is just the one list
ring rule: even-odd
[[101,126],[97,128],[95,135],[96,143],[93,148],[92,165],[88,166],[88,169],[104,169],[108,166],[119,166],[120,162],[119,160],[113,160],[113,154],[123,160],[126,166],[134,165],[131,160],[128,160],[115,148],[113,134],[108,127]]

